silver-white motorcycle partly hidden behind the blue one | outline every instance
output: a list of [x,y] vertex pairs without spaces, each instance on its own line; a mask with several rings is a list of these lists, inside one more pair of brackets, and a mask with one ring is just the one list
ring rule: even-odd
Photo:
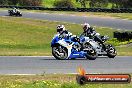
[[[95,37],[100,37],[103,44],[95,41]],[[96,50],[98,56],[108,56],[109,58],[114,58],[117,55],[116,49],[113,45],[105,44],[105,42],[109,39],[108,36],[100,36],[99,33],[95,33],[93,38],[80,36],[80,39],[83,39],[81,41],[84,48],[93,47]]]

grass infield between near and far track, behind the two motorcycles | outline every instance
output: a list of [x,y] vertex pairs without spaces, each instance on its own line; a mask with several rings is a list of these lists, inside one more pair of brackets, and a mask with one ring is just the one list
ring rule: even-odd
[[[56,33],[56,26],[64,24],[75,35],[82,33],[80,24],[33,20],[28,18],[0,17],[1,56],[44,56],[51,55],[50,42]],[[113,37],[114,29],[96,27],[101,35]],[[126,43],[125,43],[126,44]],[[118,47],[119,52],[124,49]],[[123,51],[124,52],[124,51]],[[128,52],[130,54],[128,54]],[[132,55],[131,49],[119,55]]]

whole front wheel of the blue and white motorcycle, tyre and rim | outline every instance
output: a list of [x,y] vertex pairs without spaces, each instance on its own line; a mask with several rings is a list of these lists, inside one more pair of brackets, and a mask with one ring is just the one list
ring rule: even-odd
[[68,57],[68,52],[67,52],[67,49],[62,46],[53,46],[52,55],[57,60],[65,60]]

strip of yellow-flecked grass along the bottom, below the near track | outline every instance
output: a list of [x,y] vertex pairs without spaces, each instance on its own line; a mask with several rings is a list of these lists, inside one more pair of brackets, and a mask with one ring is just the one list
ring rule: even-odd
[[76,75],[0,75],[0,88],[131,88],[130,84],[86,84],[76,83]]

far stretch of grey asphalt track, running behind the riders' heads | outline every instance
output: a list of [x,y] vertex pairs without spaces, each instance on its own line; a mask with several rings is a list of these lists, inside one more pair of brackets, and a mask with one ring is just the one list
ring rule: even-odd
[[[8,15],[7,11],[0,11],[0,16]],[[23,12],[24,18],[71,22],[83,24],[88,22],[91,25],[111,27],[115,29],[132,30],[132,20],[113,19],[113,18],[101,18],[101,17],[81,17],[74,15],[64,14],[50,14],[50,13],[38,13],[38,12]]]

